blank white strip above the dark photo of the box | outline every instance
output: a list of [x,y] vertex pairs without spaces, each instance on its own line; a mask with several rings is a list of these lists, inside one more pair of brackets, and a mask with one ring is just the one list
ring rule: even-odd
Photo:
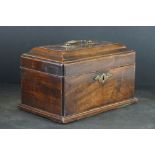
[[144,26],[154,13],[154,0],[0,0],[4,26]]

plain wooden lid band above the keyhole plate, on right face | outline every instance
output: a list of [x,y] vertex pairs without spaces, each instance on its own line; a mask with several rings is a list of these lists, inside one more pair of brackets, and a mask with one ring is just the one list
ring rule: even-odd
[[135,51],[64,64],[64,75],[74,76],[135,64]]

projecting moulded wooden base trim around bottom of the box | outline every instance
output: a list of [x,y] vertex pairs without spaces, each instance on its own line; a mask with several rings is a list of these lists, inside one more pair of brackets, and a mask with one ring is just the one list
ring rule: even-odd
[[101,106],[101,107],[93,108],[91,110],[81,112],[81,113],[78,113],[78,114],[69,115],[69,116],[60,116],[60,115],[52,114],[52,113],[46,112],[44,110],[40,110],[40,109],[31,107],[31,106],[28,106],[28,105],[25,105],[25,104],[19,104],[18,107],[21,110],[24,110],[24,111],[27,111],[27,112],[31,112],[33,114],[37,114],[37,115],[49,118],[49,119],[51,119],[51,120],[53,120],[55,122],[58,122],[58,123],[69,123],[69,122],[79,120],[79,119],[82,119],[82,118],[85,118],[85,117],[96,115],[96,114],[101,113],[101,112],[105,112],[105,111],[116,109],[116,108],[121,108],[121,107],[124,107],[126,105],[136,103],[137,101],[138,101],[137,98],[131,98],[131,99],[128,99],[128,100],[112,103],[112,104],[109,104],[109,105],[104,105],[104,106]]

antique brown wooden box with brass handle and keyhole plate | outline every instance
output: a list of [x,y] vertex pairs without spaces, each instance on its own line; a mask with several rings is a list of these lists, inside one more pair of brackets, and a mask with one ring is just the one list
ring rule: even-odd
[[134,86],[135,51],[71,40],[22,54],[19,108],[68,123],[135,103]]

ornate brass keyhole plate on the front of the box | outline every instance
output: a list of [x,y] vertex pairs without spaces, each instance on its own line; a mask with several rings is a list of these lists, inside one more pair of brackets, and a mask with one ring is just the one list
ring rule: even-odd
[[110,77],[112,77],[111,73],[98,73],[94,80],[104,84]]

